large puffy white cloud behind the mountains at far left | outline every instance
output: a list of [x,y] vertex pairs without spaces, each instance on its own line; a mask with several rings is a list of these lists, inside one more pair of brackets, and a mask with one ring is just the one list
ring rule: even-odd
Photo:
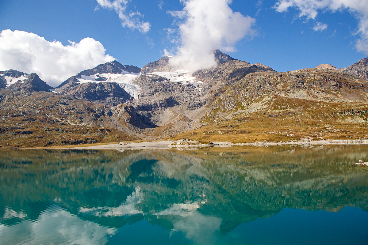
[[0,71],[35,72],[55,87],[83,70],[114,61],[105,51],[100,42],[89,37],[64,46],[34,33],[3,30],[0,33]]

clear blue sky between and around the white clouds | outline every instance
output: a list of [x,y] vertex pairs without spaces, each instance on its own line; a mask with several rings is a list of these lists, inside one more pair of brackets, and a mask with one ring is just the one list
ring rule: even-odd
[[[277,12],[276,3],[276,0],[232,1],[229,6],[234,12],[254,19],[255,32],[252,37],[233,42],[235,51],[227,54],[268,65],[279,72],[325,63],[342,68],[368,56],[355,46],[362,35],[353,35],[358,30],[358,20],[351,9],[320,8],[314,19],[308,19],[308,15],[299,17],[300,7]],[[161,58],[164,50],[175,50],[177,44],[171,42],[173,36],[168,37],[167,30],[177,30],[180,20],[167,11],[180,11],[183,7],[179,0],[130,1],[126,13],[138,11],[142,14],[139,21],[151,24],[149,31],[142,33],[124,28],[116,11],[101,7],[96,0],[1,0],[0,30],[32,32],[50,42],[60,41],[64,46],[69,45],[68,40],[78,43],[90,37],[119,62],[142,67]],[[317,22],[327,28],[315,31],[312,28]]]

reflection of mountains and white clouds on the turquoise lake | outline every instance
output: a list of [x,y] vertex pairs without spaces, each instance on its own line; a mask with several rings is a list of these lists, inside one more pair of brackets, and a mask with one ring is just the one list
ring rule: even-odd
[[367,221],[368,167],[354,165],[367,150],[1,151],[0,244],[120,244],[134,225],[166,230],[169,243],[215,244],[285,208],[354,206]]

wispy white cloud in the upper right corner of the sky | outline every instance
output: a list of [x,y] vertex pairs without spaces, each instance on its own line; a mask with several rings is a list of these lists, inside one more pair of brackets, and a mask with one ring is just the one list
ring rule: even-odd
[[[368,54],[368,1],[366,0],[279,0],[276,11],[284,12],[290,7],[300,10],[299,17],[316,19],[318,11],[348,10],[358,20],[354,35],[359,35],[355,46],[358,51]],[[317,22],[318,23],[318,22]],[[318,25],[318,24],[317,24]]]

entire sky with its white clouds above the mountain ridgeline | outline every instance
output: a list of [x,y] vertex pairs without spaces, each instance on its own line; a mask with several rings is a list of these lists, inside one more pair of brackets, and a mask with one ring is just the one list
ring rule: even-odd
[[219,48],[278,72],[368,57],[366,0],[0,0],[0,70],[36,72],[51,86],[117,60],[163,55],[188,71]]

